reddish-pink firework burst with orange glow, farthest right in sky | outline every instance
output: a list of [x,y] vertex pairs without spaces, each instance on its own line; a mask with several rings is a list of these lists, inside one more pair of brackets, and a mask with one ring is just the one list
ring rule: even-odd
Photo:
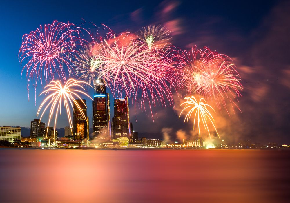
[[209,48],[199,50],[195,46],[191,52],[179,54],[177,66],[180,82],[189,94],[204,95],[219,110],[223,106],[227,112],[226,99],[238,108],[233,99],[241,97],[243,89],[240,76],[228,58]]

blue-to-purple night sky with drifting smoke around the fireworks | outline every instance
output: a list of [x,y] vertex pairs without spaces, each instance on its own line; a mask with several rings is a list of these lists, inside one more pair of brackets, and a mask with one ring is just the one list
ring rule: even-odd
[[[173,45],[189,50],[204,46],[230,56],[242,78],[242,98],[231,116],[215,115],[218,131],[229,142],[290,142],[290,3],[287,1],[11,1],[0,3],[1,49],[0,126],[30,127],[43,97],[28,101],[27,80],[21,76],[18,52],[22,36],[39,25],[93,22],[116,33],[138,32],[162,24],[173,31]],[[41,89],[39,89],[40,91]],[[32,90],[33,92],[33,90]],[[89,90],[93,95],[93,89]],[[112,99],[112,98],[111,98]],[[140,135],[172,141],[196,135],[176,110],[157,107],[149,112],[130,108],[133,128]],[[112,99],[113,101],[113,99]],[[88,104],[90,127],[91,105]],[[113,112],[111,112],[113,113]],[[47,123],[47,117],[43,122]],[[68,125],[64,114],[57,128]],[[23,131],[24,136],[26,131]],[[168,136],[166,136],[168,135]]]

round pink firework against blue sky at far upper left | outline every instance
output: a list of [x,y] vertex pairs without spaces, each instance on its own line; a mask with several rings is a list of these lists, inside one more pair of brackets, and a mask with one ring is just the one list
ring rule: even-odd
[[55,74],[65,81],[66,68],[73,71],[69,55],[74,54],[77,45],[83,44],[80,34],[80,29],[74,24],[54,21],[23,35],[19,60],[22,73],[26,70],[28,90],[30,81],[35,83],[36,91],[39,80],[41,84],[48,82]]

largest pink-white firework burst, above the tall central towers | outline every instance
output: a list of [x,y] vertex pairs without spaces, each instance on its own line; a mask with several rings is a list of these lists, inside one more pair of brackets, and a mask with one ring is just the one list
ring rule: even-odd
[[[113,35],[111,35],[113,36]],[[171,81],[173,61],[169,49],[150,50],[132,34],[109,37],[100,45],[97,58],[102,67],[99,77],[106,80],[112,93],[120,97],[124,93],[133,103],[165,106],[169,101],[173,106]],[[140,95],[140,97],[138,97]],[[115,95],[114,95],[115,96]],[[137,98],[138,97],[138,98]]]

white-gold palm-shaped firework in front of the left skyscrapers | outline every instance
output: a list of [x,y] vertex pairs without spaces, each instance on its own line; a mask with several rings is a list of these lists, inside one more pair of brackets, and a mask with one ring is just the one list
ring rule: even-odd
[[[46,110],[50,107],[49,119],[48,119],[47,126],[49,126],[50,121],[54,118],[54,129],[55,129],[56,122],[57,122],[57,115],[58,115],[58,113],[60,113],[60,115],[61,115],[61,105],[64,105],[64,108],[66,109],[66,113],[68,116],[68,121],[69,121],[70,127],[72,127],[73,123],[72,123],[72,119],[71,119],[70,105],[73,108],[73,103],[75,103],[77,108],[80,110],[83,118],[86,120],[86,117],[85,117],[83,111],[81,110],[81,107],[79,106],[79,104],[77,102],[75,102],[75,98],[80,99],[79,94],[86,95],[87,97],[90,98],[90,96],[87,95],[85,92],[76,89],[76,88],[84,89],[81,86],[81,84],[89,85],[86,82],[77,81],[75,79],[68,79],[68,81],[64,84],[64,86],[62,86],[60,81],[50,81],[50,83],[44,87],[44,91],[41,93],[41,94],[48,95],[48,96],[40,104],[40,106],[37,110],[37,116],[38,116],[41,109],[44,108],[44,110],[40,116],[40,120],[43,117]],[[53,137],[55,136],[54,134],[55,133],[53,133]]]

